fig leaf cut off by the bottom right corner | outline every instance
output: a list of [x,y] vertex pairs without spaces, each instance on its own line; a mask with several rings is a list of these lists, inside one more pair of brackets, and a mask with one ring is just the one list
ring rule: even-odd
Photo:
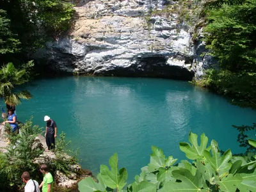
[[238,184],[240,191],[256,191],[256,170],[253,173],[240,173],[243,181]]

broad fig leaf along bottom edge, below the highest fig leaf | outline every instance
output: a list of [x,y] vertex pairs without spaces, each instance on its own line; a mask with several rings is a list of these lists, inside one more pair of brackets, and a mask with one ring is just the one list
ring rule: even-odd
[[[181,180],[181,182],[166,182],[162,189],[159,189],[159,192],[167,191],[204,191],[202,173],[196,172],[196,175],[193,176],[189,170],[180,168],[180,170],[174,170],[172,175],[175,179]],[[206,190],[205,190],[206,191]]]

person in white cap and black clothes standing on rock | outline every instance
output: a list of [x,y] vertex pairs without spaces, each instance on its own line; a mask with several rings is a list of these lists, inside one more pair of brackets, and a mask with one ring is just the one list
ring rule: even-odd
[[55,148],[55,138],[57,137],[57,125],[54,120],[52,120],[49,116],[44,116],[44,121],[46,122],[45,129],[45,139],[46,145],[48,147],[47,150],[52,150]]

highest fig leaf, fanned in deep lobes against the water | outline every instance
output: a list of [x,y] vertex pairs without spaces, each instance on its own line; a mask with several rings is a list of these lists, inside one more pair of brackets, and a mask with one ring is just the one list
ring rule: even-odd
[[186,157],[188,157],[191,160],[198,159],[204,156],[204,150],[209,150],[207,149],[207,143],[208,143],[208,138],[205,136],[205,134],[201,134],[201,143],[200,146],[197,143],[197,135],[194,134],[193,132],[189,133],[189,143],[180,143],[180,150],[182,150],[185,154]]

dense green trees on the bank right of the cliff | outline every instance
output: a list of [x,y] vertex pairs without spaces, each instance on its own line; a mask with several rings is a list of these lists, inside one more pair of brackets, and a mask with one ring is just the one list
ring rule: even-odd
[[205,1],[204,40],[219,65],[196,82],[251,108],[256,108],[255,14],[256,0]]

